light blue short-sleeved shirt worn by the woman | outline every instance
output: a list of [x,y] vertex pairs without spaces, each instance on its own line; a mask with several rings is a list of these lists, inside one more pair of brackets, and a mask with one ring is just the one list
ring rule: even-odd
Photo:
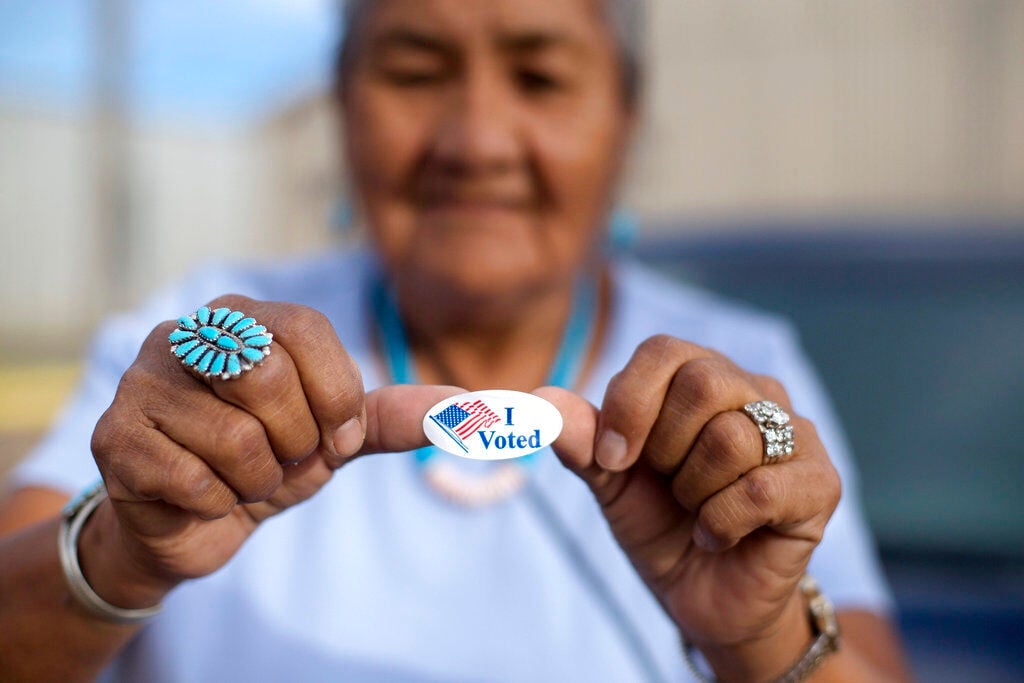
[[[106,322],[55,427],[12,473],[13,487],[75,493],[96,476],[89,439],[118,380],[160,321],[238,292],[323,311],[368,389],[368,253],[266,267],[209,267]],[[846,442],[793,330],[779,319],[614,265],[607,344],[586,388],[645,338],[714,347],[787,387],[844,480],[811,562],[840,608],[891,600],[857,501]],[[528,349],[524,349],[528,351]],[[310,501],[264,523],[220,571],[174,591],[165,612],[111,665],[110,681],[688,681],[676,629],[615,544],[589,489],[550,451],[532,494],[482,510],[440,499],[410,454],[340,470]]]

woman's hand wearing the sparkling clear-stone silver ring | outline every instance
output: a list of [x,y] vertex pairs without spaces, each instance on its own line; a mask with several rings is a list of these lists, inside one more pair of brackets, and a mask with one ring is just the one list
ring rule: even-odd
[[[782,386],[657,336],[611,380],[600,411],[562,389],[537,393],[564,417],[555,452],[719,678],[771,678],[796,661],[811,642],[798,584],[840,479]],[[742,410],[761,399],[790,413],[795,430],[793,455],[768,465]]]

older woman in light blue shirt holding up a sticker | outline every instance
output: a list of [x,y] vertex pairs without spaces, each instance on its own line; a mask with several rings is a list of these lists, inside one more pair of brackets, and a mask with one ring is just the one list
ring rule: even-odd
[[[0,678],[904,677],[788,328],[603,256],[636,4],[350,5],[372,249],[197,273],[103,327],[0,519]],[[191,353],[199,325],[269,354]],[[424,447],[437,401],[542,385],[553,454]]]

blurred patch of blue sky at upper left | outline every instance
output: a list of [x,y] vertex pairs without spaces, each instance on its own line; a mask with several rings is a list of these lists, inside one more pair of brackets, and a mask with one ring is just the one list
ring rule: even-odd
[[[337,0],[121,0],[142,121],[232,125],[329,78]],[[95,82],[97,0],[0,0],[0,104],[82,111]]]

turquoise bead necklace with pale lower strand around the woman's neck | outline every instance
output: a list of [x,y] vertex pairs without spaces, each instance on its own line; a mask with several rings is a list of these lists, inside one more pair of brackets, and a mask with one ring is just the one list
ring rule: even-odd
[[[377,280],[372,299],[391,380],[395,384],[415,384],[416,371],[398,313],[397,299],[383,278]],[[596,329],[597,305],[594,279],[580,278],[573,288],[568,323],[548,374],[549,385],[569,389],[578,381]],[[537,455],[505,461],[488,474],[468,477],[456,465],[453,456],[434,446],[425,446],[415,453],[416,462],[430,487],[444,498],[469,507],[496,503],[518,492],[525,484],[528,476],[526,468],[532,465]]]

